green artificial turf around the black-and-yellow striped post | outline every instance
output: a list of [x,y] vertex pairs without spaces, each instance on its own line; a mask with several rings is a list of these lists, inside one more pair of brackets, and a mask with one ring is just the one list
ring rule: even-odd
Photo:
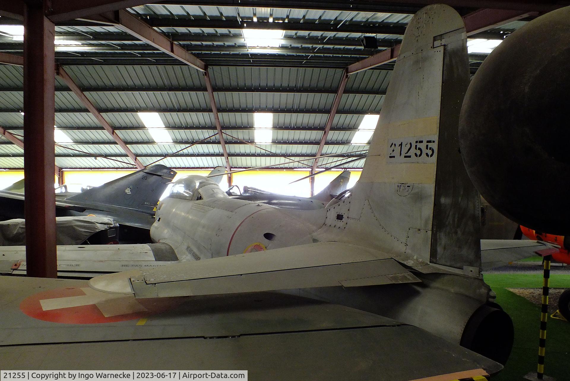
[[[522,380],[536,371],[540,307],[508,291],[507,288],[541,288],[541,274],[484,274],[485,282],[495,291],[496,302],[511,316],[515,343],[502,372],[492,381]],[[552,274],[551,287],[570,288],[570,275]],[[548,317],[545,375],[558,381],[570,380],[570,323]]]

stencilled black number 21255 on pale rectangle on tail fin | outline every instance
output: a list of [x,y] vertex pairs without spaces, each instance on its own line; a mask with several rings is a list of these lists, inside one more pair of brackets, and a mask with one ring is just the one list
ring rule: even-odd
[[437,135],[388,140],[388,163],[435,163]]

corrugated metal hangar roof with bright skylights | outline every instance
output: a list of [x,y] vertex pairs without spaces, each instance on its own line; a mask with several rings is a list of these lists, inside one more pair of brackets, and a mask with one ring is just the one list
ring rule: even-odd
[[[397,46],[420,7],[402,0],[194,0],[162,1],[128,12],[207,64],[230,164],[244,168],[282,163],[287,161],[284,157],[315,156],[345,68]],[[475,10],[456,9],[462,15]],[[471,37],[502,39],[527,20],[525,14],[518,21],[491,25]],[[2,33],[2,26],[19,23],[0,19],[0,52],[22,55],[22,40]],[[257,46],[255,38],[245,37],[244,30],[259,29],[283,32],[274,46]],[[375,37],[378,47],[364,48],[364,36]],[[473,72],[484,56],[470,55]],[[56,24],[56,61],[143,164],[172,155],[160,163],[173,168],[225,165],[201,71],[116,26],[84,20]],[[352,160],[365,153],[368,145],[351,144],[351,140],[365,115],[380,112],[391,69],[392,64],[386,63],[348,77],[338,108],[333,110],[323,155]],[[20,137],[24,135],[22,88],[22,67],[0,64],[0,126]],[[133,167],[123,149],[59,77],[55,99],[55,124],[72,141],[58,144],[56,165]],[[157,112],[173,142],[156,143],[137,114],[140,111]],[[274,115],[271,143],[255,143],[254,112]],[[321,159],[319,167],[335,164],[339,157]],[[345,167],[362,165],[363,160],[356,160]],[[22,167],[22,149],[0,137],[0,168]]]

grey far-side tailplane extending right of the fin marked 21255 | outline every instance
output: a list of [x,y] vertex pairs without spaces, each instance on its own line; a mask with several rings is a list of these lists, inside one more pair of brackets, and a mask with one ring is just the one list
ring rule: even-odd
[[554,248],[542,241],[481,240],[481,265],[484,270],[532,257],[536,251]]

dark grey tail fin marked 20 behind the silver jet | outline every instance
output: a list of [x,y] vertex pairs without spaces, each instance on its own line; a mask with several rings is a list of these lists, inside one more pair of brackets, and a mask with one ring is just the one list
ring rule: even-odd
[[158,199],[174,176],[176,171],[156,164],[109,181],[100,187],[74,194],[67,197],[66,201],[114,205],[153,213],[154,206],[158,204]]

